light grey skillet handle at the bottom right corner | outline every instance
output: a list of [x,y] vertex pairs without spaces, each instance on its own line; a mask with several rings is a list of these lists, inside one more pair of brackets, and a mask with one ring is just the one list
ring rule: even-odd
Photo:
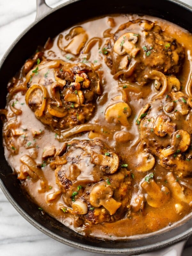
[[142,253],[139,255],[140,256],[181,256],[186,242],[187,242],[187,239],[180,241],[176,244],[172,244],[158,251]]

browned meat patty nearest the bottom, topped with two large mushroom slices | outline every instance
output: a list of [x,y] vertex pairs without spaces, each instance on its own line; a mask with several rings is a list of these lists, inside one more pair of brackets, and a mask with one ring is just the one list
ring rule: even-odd
[[65,164],[54,161],[56,182],[73,213],[99,223],[113,222],[128,212],[130,171],[108,145],[98,139],[73,140],[62,161]]

